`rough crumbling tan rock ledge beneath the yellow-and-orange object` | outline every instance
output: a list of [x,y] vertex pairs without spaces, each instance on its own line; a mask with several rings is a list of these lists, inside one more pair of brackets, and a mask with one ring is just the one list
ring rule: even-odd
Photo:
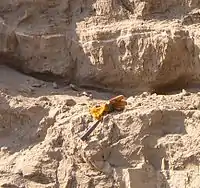
[[198,89],[129,97],[83,142],[88,106],[113,94],[0,75],[0,187],[200,188]]

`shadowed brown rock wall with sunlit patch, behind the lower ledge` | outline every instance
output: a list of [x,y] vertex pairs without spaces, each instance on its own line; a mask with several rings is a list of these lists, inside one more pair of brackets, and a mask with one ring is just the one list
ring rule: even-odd
[[1,1],[2,62],[82,86],[176,89],[199,81],[199,6],[198,0]]

